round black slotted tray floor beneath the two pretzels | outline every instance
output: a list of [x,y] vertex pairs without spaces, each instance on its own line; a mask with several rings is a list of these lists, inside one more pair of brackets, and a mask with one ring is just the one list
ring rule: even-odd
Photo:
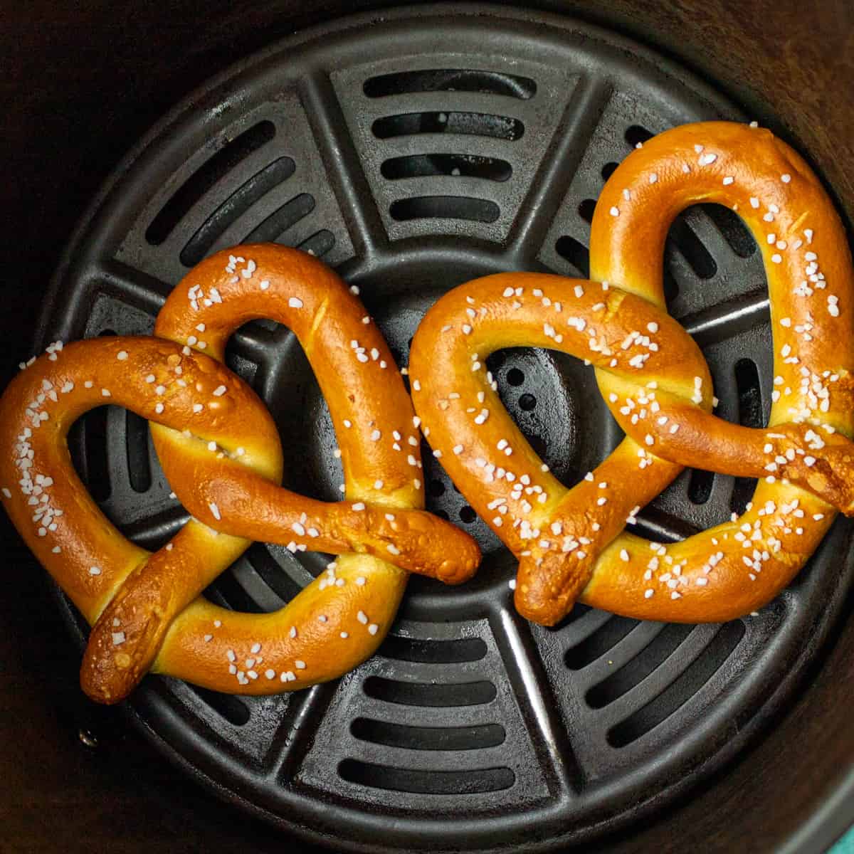
[[[57,273],[43,337],[149,333],[189,266],[274,241],[359,284],[404,366],[424,311],[469,278],[585,276],[595,199],[617,163],[653,133],[717,117],[745,118],[669,61],[547,15],[418,7],[313,30],[213,80],[129,155]],[[771,348],[752,237],[723,208],[693,208],[670,232],[666,269],[670,311],[704,348],[718,412],[762,424]],[[489,361],[506,407],[564,483],[616,446],[581,363],[535,349]],[[335,436],[294,336],[247,325],[229,364],[277,420],[284,484],[336,500]],[[134,541],[156,547],[184,523],[132,413],[91,412],[72,446]],[[512,608],[510,554],[425,459],[430,509],[483,547],[473,582],[412,578],[380,652],[335,683],[243,699],[149,677],[128,704],[164,754],[220,796],[337,850],[534,851],[638,821],[757,734],[851,576],[851,528],[838,522],[753,617],[693,627],[578,606],[541,629]],[[690,535],[751,491],[686,471],[640,513],[638,533]],[[324,565],[255,544],[208,594],[269,611]]]

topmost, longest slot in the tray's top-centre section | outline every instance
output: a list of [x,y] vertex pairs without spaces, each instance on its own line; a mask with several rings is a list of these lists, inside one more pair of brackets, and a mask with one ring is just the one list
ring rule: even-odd
[[529,77],[494,71],[460,68],[430,68],[371,77],[362,86],[369,98],[404,95],[407,92],[480,92],[482,95],[505,95],[527,101],[536,93],[536,83]]

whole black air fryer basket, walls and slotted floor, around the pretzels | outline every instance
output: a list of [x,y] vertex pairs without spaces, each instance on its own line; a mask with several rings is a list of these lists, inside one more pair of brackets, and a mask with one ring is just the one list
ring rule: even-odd
[[[761,15],[765,5],[746,9]],[[717,9],[723,26],[722,4]],[[77,195],[75,175],[50,183],[61,167],[36,175],[35,155],[19,154],[22,175],[41,178],[35,197],[21,192],[19,209],[38,222],[11,223],[11,234],[20,229],[25,261],[47,243],[35,269],[56,273],[48,288],[23,262],[7,266],[4,378],[13,362],[56,339],[150,333],[190,266],[234,243],[262,241],[310,250],[358,284],[405,366],[424,312],[470,278],[512,270],[587,277],[602,185],[655,133],[689,121],[757,118],[804,155],[828,155],[793,136],[787,116],[747,97],[725,62],[710,58],[705,67],[717,67],[729,86],[690,70],[674,22],[660,12],[662,32],[649,20],[635,30],[663,41],[670,56],[629,38],[630,4],[617,5],[611,26],[601,9],[597,23],[584,20],[583,4],[578,18],[465,3],[354,17],[255,9],[243,18],[224,9],[193,22],[203,34],[195,45],[184,38],[188,11],[189,3],[178,9],[177,23],[163,12],[164,30],[146,30],[151,45],[131,51],[130,77],[111,81],[108,61],[93,50],[89,61],[106,75],[97,97],[111,106],[87,103],[75,90],[80,103],[70,98],[63,108],[85,111],[91,138],[60,140],[55,132],[53,139],[91,151],[91,164],[78,156],[85,168]],[[28,13],[19,14],[26,25]],[[88,13],[78,14],[69,26],[82,32]],[[315,26],[278,38],[309,19]],[[35,38],[34,28],[21,32],[25,46]],[[92,32],[100,50],[110,52],[118,39],[114,62],[124,25]],[[194,66],[190,87],[167,65],[194,50],[212,64]],[[734,50],[733,64],[749,67],[750,57]],[[129,132],[140,136],[153,118],[144,114],[154,112],[150,104],[137,114],[126,102],[137,92],[121,87],[122,78],[145,73],[146,59],[178,106],[115,166],[112,146],[126,148]],[[181,61],[184,70],[193,64]],[[61,103],[51,67],[41,78],[33,73],[35,105]],[[220,73],[207,79],[202,71]],[[781,60],[779,73],[795,72]],[[152,85],[137,85],[150,95]],[[851,103],[849,93],[841,108]],[[23,149],[20,121],[24,132],[13,142]],[[44,117],[49,134],[63,126]],[[834,114],[828,134],[844,126]],[[47,143],[32,144],[37,154]],[[824,165],[816,157],[819,173]],[[110,172],[69,237],[83,211],[77,196],[91,196],[91,182]],[[50,208],[50,196],[69,192]],[[718,414],[761,426],[772,356],[751,235],[725,208],[691,208],[671,228],[665,271],[670,313],[703,348]],[[38,328],[26,319],[36,305]],[[342,475],[329,412],[294,336],[272,322],[246,325],[228,364],[277,421],[284,485],[336,500]],[[523,348],[492,355],[488,366],[508,411],[564,483],[617,445],[620,430],[591,369],[577,360]],[[87,414],[70,445],[91,493],[133,541],[159,547],[188,518],[170,497],[147,424],[131,412]],[[20,691],[9,687],[0,697],[8,695],[9,718],[27,734],[9,752],[9,783],[28,787],[38,804],[9,798],[11,850],[266,851],[299,840],[383,854],[691,845],[794,852],[822,851],[854,821],[854,804],[845,803],[854,780],[845,713],[854,696],[854,636],[845,624],[854,529],[845,519],[790,588],[749,617],[668,625],[577,605],[543,629],[514,611],[515,561],[430,453],[424,483],[429,509],[477,539],[477,577],[460,588],[413,577],[374,658],[339,681],[268,698],[148,677],[120,711],[87,704],[76,685],[85,625],[60,591],[51,600],[9,529],[9,583],[30,611],[24,619],[9,602],[0,611],[9,627],[0,648],[9,651],[12,681],[20,679]],[[638,533],[681,539],[741,512],[752,488],[746,479],[685,471],[640,512]],[[241,611],[275,610],[325,560],[256,543],[208,596]],[[55,624],[57,601],[64,627]],[[38,678],[21,652],[31,641]],[[3,723],[7,741],[18,723]],[[61,782],[45,786],[42,778],[56,774]],[[91,798],[69,797],[78,777]],[[63,830],[27,829],[31,812],[50,823],[57,809],[70,812]],[[161,820],[143,820],[155,815]],[[111,835],[123,827],[132,828],[131,839]]]

